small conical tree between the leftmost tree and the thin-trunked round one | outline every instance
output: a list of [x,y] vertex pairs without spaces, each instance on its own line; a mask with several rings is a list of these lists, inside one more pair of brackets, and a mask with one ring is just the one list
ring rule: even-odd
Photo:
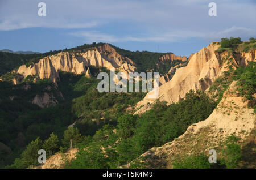
[[59,149],[59,138],[57,135],[52,134],[49,136],[48,139],[44,141],[43,149],[49,153],[49,155],[52,155]]

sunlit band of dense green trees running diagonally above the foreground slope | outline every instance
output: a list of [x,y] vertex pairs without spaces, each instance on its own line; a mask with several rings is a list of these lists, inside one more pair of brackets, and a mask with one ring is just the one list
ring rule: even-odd
[[[89,157],[103,155],[105,158],[101,161],[92,162],[93,168],[117,168],[125,165],[147,149],[162,145],[183,134],[192,123],[207,118],[215,106],[216,103],[205,93],[191,91],[187,93],[185,100],[176,104],[167,106],[163,102],[157,102],[154,108],[141,117],[123,114],[118,118],[117,126],[105,125],[96,131],[92,138],[86,136],[86,143],[80,147],[81,153],[77,154],[76,160],[71,164],[67,162],[65,167],[92,168],[88,162],[93,160]],[[95,154],[96,152],[98,153]]]

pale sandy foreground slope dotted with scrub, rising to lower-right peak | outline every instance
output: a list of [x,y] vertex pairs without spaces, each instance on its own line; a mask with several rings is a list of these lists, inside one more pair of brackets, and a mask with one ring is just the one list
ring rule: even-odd
[[[175,160],[200,153],[209,156],[210,149],[216,150],[217,158],[221,158],[225,138],[230,135],[241,138],[242,154],[245,158],[250,156],[246,155],[246,149],[243,148],[248,143],[254,144],[255,148],[256,117],[253,109],[247,108],[248,101],[238,96],[236,89],[236,82],[230,84],[217,108],[205,121],[189,126],[187,131],[174,141],[143,153],[141,157],[144,157],[143,162],[146,162],[148,168],[172,168],[172,162]],[[255,162],[250,162],[250,166],[255,168]]]

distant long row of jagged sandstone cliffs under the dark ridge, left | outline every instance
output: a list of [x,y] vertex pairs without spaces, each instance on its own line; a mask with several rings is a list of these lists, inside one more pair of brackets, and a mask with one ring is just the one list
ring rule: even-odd
[[134,62],[127,57],[118,54],[112,46],[104,44],[98,48],[77,50],[73,52],[60,52],[40,59],[38,63],[32,63],[29,67],[22,65],[18,74],[26,78],[28,75],[39,75],[40,79],[49,78],[53,82],[59,80],[58,71],[86,74],[86,67],[117,68],[128,74],[134,72]]

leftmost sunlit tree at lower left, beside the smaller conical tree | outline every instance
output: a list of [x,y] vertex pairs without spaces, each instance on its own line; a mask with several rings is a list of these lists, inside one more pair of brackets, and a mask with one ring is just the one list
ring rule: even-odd
[[34,166],[38,164],[38,151],[42,148],[43,142],[38,137],[27,145],[27,149],[22,152],[22,158],[27,166]]

